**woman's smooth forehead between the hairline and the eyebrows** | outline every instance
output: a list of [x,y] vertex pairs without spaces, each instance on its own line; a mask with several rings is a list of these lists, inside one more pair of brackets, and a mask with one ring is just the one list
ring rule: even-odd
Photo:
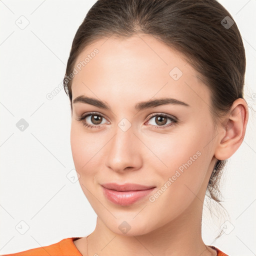
[[168,95],[190,104],[209,102],[208,88],[186,57],[151,35],[99,39],[78,55],[74,66],[73,98],[96,95],[108,102],[112,96],[123,102],[139,93],[141,100]]

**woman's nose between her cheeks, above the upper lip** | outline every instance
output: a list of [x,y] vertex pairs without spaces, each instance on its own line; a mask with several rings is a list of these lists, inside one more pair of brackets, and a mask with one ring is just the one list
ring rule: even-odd
[[113,171],[134,171],[141,167],[141,141],[133,133],[132,126],[126,131],[117,126],[116,133],[107,143],[106,167]]

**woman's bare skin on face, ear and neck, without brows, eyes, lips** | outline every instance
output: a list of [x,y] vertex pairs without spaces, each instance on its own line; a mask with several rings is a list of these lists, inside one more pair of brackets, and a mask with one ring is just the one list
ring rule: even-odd
[[[201,237],[203,199],[216,159],[227,159],[242,142],[246,102],[235,100],[215,129],[210,91],[180,52],[150,35],[125,40],[111,36],[87,46],[76,63],[94,48],[99,52],[73,78],[72,99],[94,97],[111,110],[72,103],[70,132],[79,183],[97,214],[88,255],[216,255]],[[178,80],[169,75],[173,67],[183,72]],[[166,96],[189,106],[134,108],[137,102]],[[100,128],[87,128],[84,120],[77,120],[90,111],[103,116]],[[169,114],[177,122],[167,127],[171,121],[166,119],[161,125],[156,117],[148,118],[154,113]],[[118,127],[122,118],[131,124],[126,131]],[[86,120],[99,125],[91,116]],[[148,197],[156,191],[129,206],[113,204],[103,195],[100,184],[107,182],[153,185],[158,190],[197,151],[200,156],[153,202]],[[118,228],[124,220],[131,227],[126,234]],[[87,255],[86,237],[74,244]]]

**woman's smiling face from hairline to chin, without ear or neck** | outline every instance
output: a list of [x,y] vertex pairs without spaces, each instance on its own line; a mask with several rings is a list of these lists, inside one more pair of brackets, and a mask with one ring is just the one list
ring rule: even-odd
[[[126,227],[127,235],[138,235],[191,217],[215,162],[210,92],[198,73],[177,51],[142,34],[98,40],[74,67],[72,100],[94,100],[72,102],[72,156],[100,220],[115,233]],[[105,183],[154,188],[114,192]]]

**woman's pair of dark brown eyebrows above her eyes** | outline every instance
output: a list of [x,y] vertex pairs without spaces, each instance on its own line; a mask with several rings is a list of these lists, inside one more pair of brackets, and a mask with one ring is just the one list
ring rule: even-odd
[[[84,95],[80,95],[80,96],[76,97],[72,102],[73,103],[76,103],[76,102],[87,103],[87,104],[90,104],[93,106],[97,106],[99,108],[111,110],[111,108],[103,101],[98,100],[96,98],[87,97]],[[189,106],[187,103],[177,100],[175,98],[157,98],[157,99],[151,99],[148,101],[138,102],[135,104],[135,109],[140,111],[142,109],[156,107],[156,106],[165,105],[165,104]]]

